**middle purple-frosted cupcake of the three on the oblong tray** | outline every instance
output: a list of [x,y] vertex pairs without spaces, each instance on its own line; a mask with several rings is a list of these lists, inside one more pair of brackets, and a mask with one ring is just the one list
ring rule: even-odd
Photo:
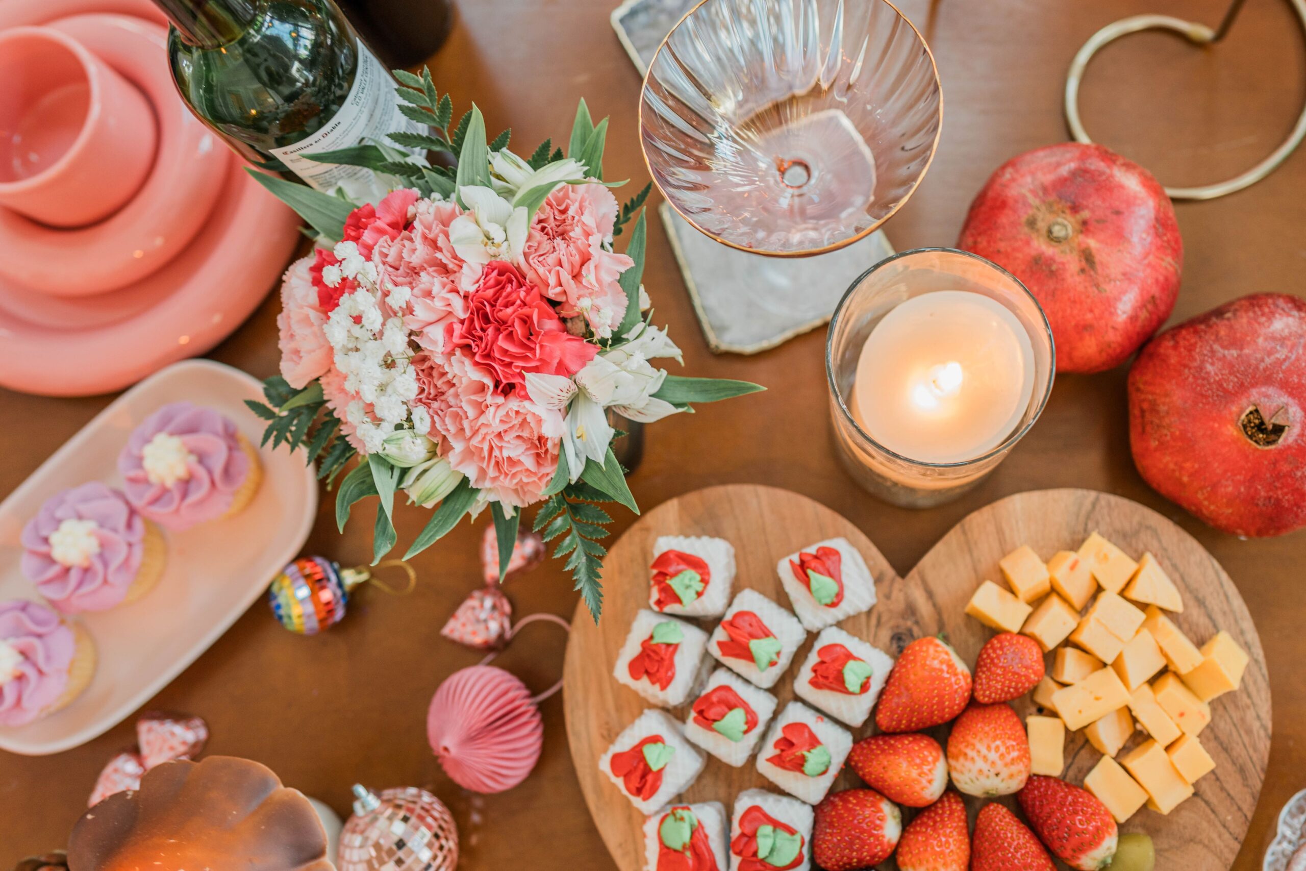
[[63,611],[104,611],[141,598],[163,576],[158,526],[102,483],[50,499],[22,528],[22,573]]

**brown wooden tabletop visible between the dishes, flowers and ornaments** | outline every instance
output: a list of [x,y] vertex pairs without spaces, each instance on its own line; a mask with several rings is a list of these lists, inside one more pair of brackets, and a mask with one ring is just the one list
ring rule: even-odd
[[[609,178],[645,180],[636,106],[639,76],[611,33],[613,0],[461,0],[454,31],[432,61],[456,104],[475,99],[488,125],[511,124],[518,144],[565,137],[576,99],[613,119]],[[952,244],[970,197],[1003,161],[1062,141],[1060,90],[1084,39],[1117,18],[1161,12],[1215,24],[1225,0],[906,0],[926,33],[946,95],[943,141],[914,198],[887,230],[900,248]],[[1139,35],[1104,51],[1084,87],[1083,111],[1102,141],[1152,168],[1162,182],[1195,184],[1232,176],[1277,145],[1306,98],[1299,30],[1284,0],[1251,0],[1228,42],[1199,51],[1164,35]],[[653,202],[654,197],[650,200]],[[1267,182],[1207,204],[1181,204],[1183,320],[1254,291],[1303,295],[1306,151]],[[661,223],[650,222],[645,283],[658,320],[684,349],[687,370],[759,381],[769,392],[705,406],[649,427],[644,464],[631,487],[654,505],[707,484],[756,482],[823,501],[863,529],[901,575],[966,513],[1003,495],[1045,487],[1091,487],[1157,508],[1194,533],[1233,576],[1264,642],[1273,691],[1269,773],[1237,871],[1260,867],[1284,802],[1306,786],[1306,533],[1245,542],[1209,530],[1153,494],[1130,461],[1124,375],[1059,377],[1038,426],[1007,462],[959,503],[925,512],[891,508],[858,490],[827,439],[824,330],[755,358],[708,353]],[[213,356],[266,376],[277,367],[276,296]],[[0,495],[106,405],[108,397],[46,400],[0,393]],[[371,554],[364,511],[343,537],[324,500],[308,552],[343,564]],[[487,518],[486,518],[487,520]],[[304,639],[283,631],[260,602],[170,687],[150,701],[209,721],[210,753],[247,756],[286,784],[349,811],[355,781],[417,785],[454,811],[462,868],[610,868],[585,810],[565,747],[562,699],[545,703],[545,752],[521,786],[495,797],[461,791],[426,744],[426,708],[440,680],[479,654],[439,636],[440,626],[479,584],[482,520],[418,558],[418,590],[394,599],[362,590],[346,620]],[[400,509],[400,541],[421,512]],[[629,522],[622,518],[619,530]],[[546,565],[507,589],[518,615],[571,615],[575,594]],[[562,669],[563,639],[532,627],[500,658],[533,687]],[[57,756],[0,755],[0,867],[60,846],[85,808],[101,767],[133,740],[132,721]],[[1162,867],[1164,859],[1162,859]]]

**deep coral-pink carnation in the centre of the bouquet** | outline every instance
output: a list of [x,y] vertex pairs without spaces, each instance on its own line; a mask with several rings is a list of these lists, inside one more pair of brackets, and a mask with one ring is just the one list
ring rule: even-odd
[[598,349],[569,336],[554,307],[526,283],[516,266],[502,260],[486,264],[468,315],[444,333],[445,353],[465,349],[490,370],[499,389],[526,385],[526,372],[575,375]]

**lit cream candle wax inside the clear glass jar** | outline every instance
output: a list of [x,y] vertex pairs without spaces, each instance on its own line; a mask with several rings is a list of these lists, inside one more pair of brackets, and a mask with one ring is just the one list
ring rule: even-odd
[[1020,423],[1034,349],[983,294],[940,290],[896,306],[862,346],[852,413],[880,445],[917,462],[981,457]]

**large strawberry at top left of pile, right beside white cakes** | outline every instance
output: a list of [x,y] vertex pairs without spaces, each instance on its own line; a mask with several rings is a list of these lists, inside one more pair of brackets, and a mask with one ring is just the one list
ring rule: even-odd
[[946,723],[970,700],[970,669],[935,637],[906,645],[875,709],[880,731],[921,731]]

